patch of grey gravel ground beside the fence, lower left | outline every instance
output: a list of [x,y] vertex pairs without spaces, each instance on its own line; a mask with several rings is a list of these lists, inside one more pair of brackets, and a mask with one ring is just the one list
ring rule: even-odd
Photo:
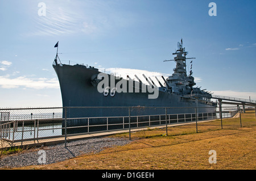
[[98,153],[105,148],[122,146],[130,141],[123,138],[90,138],[86,140],[71,141],[65,148],[63,144],[45,146],[36,151],[9,155],[0,159],[0,167],[22,167],[29,165],[51,164],[77,157],[86,153]]

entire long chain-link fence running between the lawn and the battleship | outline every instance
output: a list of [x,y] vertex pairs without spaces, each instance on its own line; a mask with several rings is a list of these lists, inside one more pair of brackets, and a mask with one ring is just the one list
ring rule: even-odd
[[[237,108],[222,108],[222,116],[212,107],[56,107],[1,109],[1,141],[29,145],[80,139],[88,136],[121,133],[130,139],[145,137],[146,131],[158,128],[169,134],[170,126],[191,124],[192,132],[220,129],[234,123]],[[216,123],[205,122],[221,119]],[[244,123],[247,124],[247,123]],[[248,123],[250,124],[250,123]],[[119,131],[119,132],[118,132]],[[125,132],[125,133],[123,133]],[[132,133],[132,134],[131,134]],[[143,136],[138,136],[142,134]],[[159,133],[158,133],[159,134]]]

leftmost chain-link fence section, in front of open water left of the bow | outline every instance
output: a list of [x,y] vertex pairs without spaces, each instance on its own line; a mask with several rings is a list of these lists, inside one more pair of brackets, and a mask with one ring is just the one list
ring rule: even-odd
[[[1,109],[1,140],[9,142],[34,141],[60,136],[63,108]],[[8,117],[8,119],[6,119]]]

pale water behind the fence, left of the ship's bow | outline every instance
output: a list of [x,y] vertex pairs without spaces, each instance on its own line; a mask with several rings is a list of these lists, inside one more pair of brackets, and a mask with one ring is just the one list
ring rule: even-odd
[[[18,121],[19,123],[18,127],[16,127],[15,132],[13,131],[13,124],[11,124],[11,127],[9,129],[6,127],[2,127],[3,133],[0,136],[8,140],[22,140],[22,138],[24,140],[24,139],[60,136],[61,128],[62,128],[61,121],[53,120],[56,122],[44,123],[43,119],[62,118],[62,108],[51,108],[50,110],[51,112],[47,108],[42,108],[42,109],[31,108],[28,110],[14,109],[14,110],[5,110],[3,112],[0,112],[2,124],[4,124],[6,120]],[[36,119],[39,120],[39,127],[38,127],[37,121],[36,121],[36,125],[34,125],[34,120]],[[24,120],[23,135],[22,135],[22,120]],[[32,122],[28,120],[31,120]]]

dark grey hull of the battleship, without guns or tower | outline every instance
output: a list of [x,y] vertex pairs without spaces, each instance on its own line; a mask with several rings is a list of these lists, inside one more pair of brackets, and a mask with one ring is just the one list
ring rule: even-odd
[[[116,92],[114,96],[104,96],[98,92],[97,86],[91,83],[91,77],[99,74],[98,69],[89,69],[82,65],[53,65],[59,78],[63,107],[180,107],[179,109],[170,109],[168,113],[195,113],[195,107],[198,112],[216,112],[216,105],[207,101],[199,101],[196,104],[195,99],[160,91],[156,99],[148,99],[149,92]],[[191,108],[193,107],[193,108]],[[154,115],[156,112],[149,111],[148,114]],[[110,115],[111,114],[111,115]],[[73,113],[70,117],[100,117],[121,115],[122,112],[104,113],[84,112]],[[68,114],[67,116],[69,117]]]

